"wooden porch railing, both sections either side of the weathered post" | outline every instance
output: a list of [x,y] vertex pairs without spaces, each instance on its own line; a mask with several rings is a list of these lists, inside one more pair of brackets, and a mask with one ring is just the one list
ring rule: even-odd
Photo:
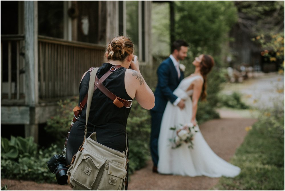
[[[1,35],[1,100],[25,100],[24,48],[24,35]],[[104,51],[102,45],[38,36],[39,101],[78,95],[82,75],[101,66]]]

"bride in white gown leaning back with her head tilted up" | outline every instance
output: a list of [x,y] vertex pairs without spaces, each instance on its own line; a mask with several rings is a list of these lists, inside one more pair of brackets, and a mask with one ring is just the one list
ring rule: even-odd
[[[182,176],[234,177],[241,169],[217,156],[203,138],[196,122],[196,112],[199,97],[206,97],[206,75],[214,65],[210,55],[200,55],[193,61],[195,72],[184,78],[174,94],[185,100],[185,108],[167,103],[162,117],[158,138],[158,172],[160,174],[175,174]],[[190,98],[192,96],[192,100]],[[183,143],[172,149],[170,139],[176,136],[176,131],[170,127],[192,123],[198,132],[194,135],[193,148]]]

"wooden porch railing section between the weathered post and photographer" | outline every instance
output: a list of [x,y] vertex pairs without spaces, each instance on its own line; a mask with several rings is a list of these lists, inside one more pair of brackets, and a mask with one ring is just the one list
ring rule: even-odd
[[79,83],[90,67],[101,66],[105,48],[38,36],[39,98],[78,95]]

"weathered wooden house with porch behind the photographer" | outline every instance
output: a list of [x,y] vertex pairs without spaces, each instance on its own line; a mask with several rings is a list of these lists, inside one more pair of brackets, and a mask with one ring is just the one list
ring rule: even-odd
[[[33,136],[118,35],[152,65],[151,1],[1,1],[1,136]],[[72,116],[71,116],[72,117]]]

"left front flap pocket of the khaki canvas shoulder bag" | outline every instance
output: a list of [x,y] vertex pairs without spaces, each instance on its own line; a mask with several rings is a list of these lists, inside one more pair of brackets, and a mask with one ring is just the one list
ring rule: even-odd
[[76,182],[79,187],[92,190],[99,170],[107,159],[85,149],[80,157],[81,161],[72,170],[71,181]]

